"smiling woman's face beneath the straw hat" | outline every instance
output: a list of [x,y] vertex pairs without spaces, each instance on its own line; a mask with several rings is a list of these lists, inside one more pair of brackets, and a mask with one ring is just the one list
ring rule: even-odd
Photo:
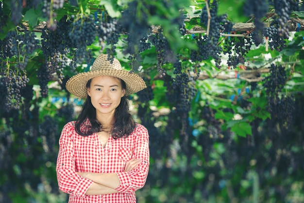
[[91,97],[98,119],[99,116],[114,115],[125,90],[122,89],[121,81],[117,77],[97,76],[91,80],[90,87],[87,88],[87,94]]

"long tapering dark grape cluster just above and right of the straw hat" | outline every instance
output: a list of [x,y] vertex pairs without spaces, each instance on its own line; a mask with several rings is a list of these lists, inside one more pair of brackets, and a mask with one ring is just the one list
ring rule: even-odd
[[173,52],[169,46],[169,42],[164,36],[164,33],[161,29],[155,35],[151,35],[149,37],[152,45],[155,46],[156,51],[156,59],[157,59],[157,71],[160,77],[166,75],[165,69],[163,69],[163,65],[168,61],[173,61]]

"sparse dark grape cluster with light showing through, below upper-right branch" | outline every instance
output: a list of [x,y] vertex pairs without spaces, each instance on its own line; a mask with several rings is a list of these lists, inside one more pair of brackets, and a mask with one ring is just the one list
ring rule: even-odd
[[236,68],[238,64],[244,64],[245,56],[251,49],[251,38],[231,37],[224,43],[223,54],[228,54],[227,65]]

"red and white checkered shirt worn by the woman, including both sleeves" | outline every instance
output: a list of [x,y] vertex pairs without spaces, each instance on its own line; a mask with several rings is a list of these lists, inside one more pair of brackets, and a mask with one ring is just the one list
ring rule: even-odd
[[[132,171],[123,172],[127,161],[140,158],[141,163]],[[69,194],[68,203],[136,203],[135,191],[142,188],[149,171],[148,130],[136,124],[127,138],[111,136],[102,148],[96,133],[81,136],[75,131],[75,121],[62,129],[56,164],[59,189]],[[85,195],[93,183],[77,172],[117,173],[119,193]]]

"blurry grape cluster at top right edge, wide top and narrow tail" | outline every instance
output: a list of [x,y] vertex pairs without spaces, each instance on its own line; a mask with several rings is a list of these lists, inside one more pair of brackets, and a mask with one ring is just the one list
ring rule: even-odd
[[243,7],[245,16],[254,17],[254,31],[251,33],[251,36],[256,46],[263,41],[264,23],[262,18],[265,17],[268,8],[269,4],[266,0],[247,0]]

